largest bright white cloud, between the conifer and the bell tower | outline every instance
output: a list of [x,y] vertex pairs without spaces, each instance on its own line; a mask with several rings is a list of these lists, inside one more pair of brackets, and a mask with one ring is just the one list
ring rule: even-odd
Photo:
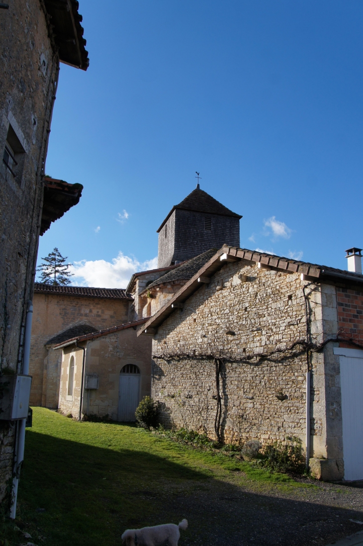
[[139,262],[136,258],[124,256],[120,252],[111,262],[106,260],[81,260],[74,262],[69,270],[74,273],[75,286],[94,286],[99,288],[126,288],[130,277],[136,271],[156,269],[158,259]]

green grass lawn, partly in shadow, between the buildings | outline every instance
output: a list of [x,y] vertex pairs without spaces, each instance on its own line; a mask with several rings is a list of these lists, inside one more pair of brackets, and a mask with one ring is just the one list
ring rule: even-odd
[[[231,480],[255,492],[306,487],[134,426],[79,423],[34,407],[15,524],[39,546],[113,546],[128,527],[178,523],[186,514],[177,498]],[[192,543],[196,525],[182,533],[181,545]]]

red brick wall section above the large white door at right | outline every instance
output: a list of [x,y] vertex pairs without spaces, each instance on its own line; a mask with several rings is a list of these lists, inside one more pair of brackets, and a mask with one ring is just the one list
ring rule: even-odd
[[336,293],[339,328],[347,337],[363,343],[363,293],[339,287]]

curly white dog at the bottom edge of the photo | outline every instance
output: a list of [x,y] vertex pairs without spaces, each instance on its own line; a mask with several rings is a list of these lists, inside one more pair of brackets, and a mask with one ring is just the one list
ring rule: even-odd
[[169,546],[178,546],[180,539],[179,529],[185,531],[188,521],[183,519],[179,525],[167,523],[154,527],[142,527],[142,529],[127,529],[121,537],[126,546],[159,546],[169,542]]

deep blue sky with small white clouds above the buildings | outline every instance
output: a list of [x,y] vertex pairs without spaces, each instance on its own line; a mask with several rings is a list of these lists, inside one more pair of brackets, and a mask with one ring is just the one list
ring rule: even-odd
[[80,203],[40,238],[74,283],[126,286],[195,187],[241,246],[345,269],[363,246],[361,0],[80,0],[90,68],[61,64],[46,173]]

